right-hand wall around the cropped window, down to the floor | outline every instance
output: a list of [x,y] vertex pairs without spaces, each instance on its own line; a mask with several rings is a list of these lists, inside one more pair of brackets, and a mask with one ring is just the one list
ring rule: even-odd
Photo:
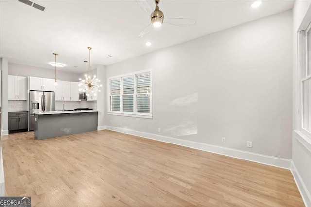
[[[297,32],[301,30],[303,24],[308,24],[311,19],[311,1],[296,0],[293,8],[293,129],[299,130],[300,115],[298,113],[298,91],[297,91]],[[292,159],[294,168],[292,169],[299,190],[304,198],[306,206],[311,206],[311,142],[304,139],[293,131]]]

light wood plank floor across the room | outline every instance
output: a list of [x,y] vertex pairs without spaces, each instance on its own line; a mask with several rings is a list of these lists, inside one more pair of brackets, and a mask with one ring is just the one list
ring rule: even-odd
[[289,170],[112,131],[2,137],[7,196],[33,206],[304,206]]

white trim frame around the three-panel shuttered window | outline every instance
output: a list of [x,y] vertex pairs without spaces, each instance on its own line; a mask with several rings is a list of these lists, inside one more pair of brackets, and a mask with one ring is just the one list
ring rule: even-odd
[[[150,74],[150,108],[149,113],[137,112],[137,76],[142,74]],[[134,77],[134,94],[133,94],[133,112],[123,111],[123,78]],[[111,111],[111,80],[120,79],[120,111]],[[153,81],[152,81],[152,69],[140,70],[132,73],[121,74],[117,76],[107,77],[107,89],[108,89],[108,101],[107,101],[107,114],[117,116],[130,116],[138,118],[153,118]]]

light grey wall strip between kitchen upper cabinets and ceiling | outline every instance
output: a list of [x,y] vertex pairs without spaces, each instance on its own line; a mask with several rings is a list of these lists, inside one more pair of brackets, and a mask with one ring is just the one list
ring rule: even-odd
[[[15,76],[35,76],[41,78],[55,78],[55,70],[47,69],[47,68],[40,68],[34,67],[29,65],[23,64],[15,64],[9,63],[8,74],[15,75]],[[77,82],[79,81],[80,74],[78,73],[70,73],[62,71],[61,68],[57,69],[57,80],[64,80],[64,81],[72,81]]]

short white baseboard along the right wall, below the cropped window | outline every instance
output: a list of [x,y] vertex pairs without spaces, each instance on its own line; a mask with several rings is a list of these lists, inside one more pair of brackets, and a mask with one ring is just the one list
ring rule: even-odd
[[296,182],[296,185],[299,189],[300,195],[306,205],[306,207],[311,207],[311,195],[308,191],[305,183],[303,182],[301,176],[299,175],[299,172],[294,164],[294,162],[291,162],[291,172],[293,174],[294,180]]

